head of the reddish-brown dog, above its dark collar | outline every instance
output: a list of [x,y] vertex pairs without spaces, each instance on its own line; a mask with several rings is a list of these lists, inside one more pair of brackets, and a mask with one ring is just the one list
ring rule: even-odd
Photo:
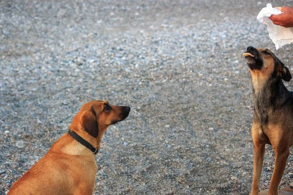
[[92,137],[102,139],[108,126],[124,120],[129,112],[128,106],[114,106],[101,100],[90,101],[82,106],[69,128],[84,130]]

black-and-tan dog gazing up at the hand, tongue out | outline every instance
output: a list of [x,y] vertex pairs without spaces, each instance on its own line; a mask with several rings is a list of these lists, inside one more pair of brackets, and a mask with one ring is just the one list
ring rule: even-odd
[[250,46],[243,56],[251,72],[254,105],[251,195],[258,195],[265,144],[271,144],[275,154],[269,195],[277,195],[289,147],[293,145],[293,93],[287,90],[282,79],[290,81],[292,77],[288,68],[268,49]]

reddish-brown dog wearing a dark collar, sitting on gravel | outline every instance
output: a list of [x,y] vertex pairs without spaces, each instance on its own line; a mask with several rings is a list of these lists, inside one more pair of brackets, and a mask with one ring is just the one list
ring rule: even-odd
[[93,195],[100,142],[108,126],[124,120],[129,112],[129,107],[107,101],[85,103],[68,133],[12,185],[8,195]]

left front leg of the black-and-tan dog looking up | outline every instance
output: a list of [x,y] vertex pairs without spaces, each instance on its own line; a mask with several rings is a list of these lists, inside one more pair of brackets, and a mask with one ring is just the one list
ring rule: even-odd
[[253,179],[252,179],[252,190],[251,195],[258,195],[259,181],[262,170],[262,164],[265,155],[265,145],[263,143],[253,143]]

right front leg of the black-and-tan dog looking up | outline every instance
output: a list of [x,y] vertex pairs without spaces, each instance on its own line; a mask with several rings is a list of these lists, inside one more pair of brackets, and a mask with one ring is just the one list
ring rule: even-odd
[[278,194],[279,183],[282,179],[282,176],[286,167],[287,158],[290,153],[289,147],[281,151],[276,149],[274,150],[274,153],[275,153],[275,165],[272,172],[272,179],[271,179],[271,183],[269,187],[269,195]]

